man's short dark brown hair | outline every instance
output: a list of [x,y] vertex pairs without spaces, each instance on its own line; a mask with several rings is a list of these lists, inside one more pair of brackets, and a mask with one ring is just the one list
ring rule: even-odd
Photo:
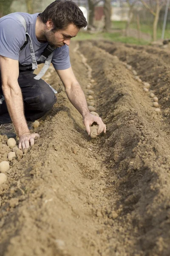
[[87,26],[87,21],[73,1],[56,0],[51,3],[40,15],[43,23],[48,20],[54,23],[54,31],[65,29],[69,24],[74,24],[79,29]]

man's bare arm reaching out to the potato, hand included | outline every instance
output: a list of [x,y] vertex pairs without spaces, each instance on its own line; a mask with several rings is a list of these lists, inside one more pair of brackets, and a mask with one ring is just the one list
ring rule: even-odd
[[96,122],[99,125],[97,131],[98,134],[102,133],[102,131],[106,132],[106,126],[102,122],[102,119],[98,116],[92,115],[88,110],[85,94],[83,93],[79,82],[74,76],[72,68],[70,67],[67,70],[56,70],[56,72],[58,73],[62,83],[65,86],[68,99],[79,111],[79,113],[81,113],[88,134],[90,134],[90,125],[92,125],[93,122]]

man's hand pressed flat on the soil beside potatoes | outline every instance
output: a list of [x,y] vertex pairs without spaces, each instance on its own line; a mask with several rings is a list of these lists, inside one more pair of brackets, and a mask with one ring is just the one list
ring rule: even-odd
[[30,132],[22,134],[20,136],[18,148],[25,149],[25,148],[29,148],[30,145],[31,146],[34,145],[35,137],[39,137],[39,134],[31,134]]

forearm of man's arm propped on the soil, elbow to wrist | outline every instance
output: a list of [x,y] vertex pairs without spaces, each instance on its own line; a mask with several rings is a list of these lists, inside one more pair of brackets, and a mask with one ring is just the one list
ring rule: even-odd
[[29,132],[26,119],[24,116],[23,97],[19,84],[12,84],[12,86],[2,85],[4,98],[8,108],[8,113],[14,124],[17,135]]

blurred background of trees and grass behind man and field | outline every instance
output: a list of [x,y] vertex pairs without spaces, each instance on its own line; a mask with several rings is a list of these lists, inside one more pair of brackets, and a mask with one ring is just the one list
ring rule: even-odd
[[[11,12],[42,12],[52,0],[0,0],[0,17]],[[109,39],[132,44],[163,44],[170,38],[170,0],[74,0],[88,20],[79,40]],[[166,40],[164,40],[166,39]]]

